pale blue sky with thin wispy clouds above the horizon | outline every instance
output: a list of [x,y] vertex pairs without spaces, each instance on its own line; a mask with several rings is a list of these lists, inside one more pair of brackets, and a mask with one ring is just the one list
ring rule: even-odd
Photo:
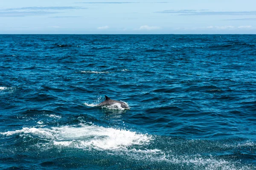
[[0,0],[0,34],[256,34],[256,0]]

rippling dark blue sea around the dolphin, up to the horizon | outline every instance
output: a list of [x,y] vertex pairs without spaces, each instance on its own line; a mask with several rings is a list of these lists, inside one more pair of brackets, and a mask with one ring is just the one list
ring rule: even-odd
[[0,35],[0,169],[256,169],[256,35]]

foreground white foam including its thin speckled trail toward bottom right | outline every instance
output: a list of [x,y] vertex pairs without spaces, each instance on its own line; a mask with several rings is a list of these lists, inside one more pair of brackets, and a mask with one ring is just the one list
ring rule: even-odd
[[[239,161],[227,161],[214,157],[204,157],[199,154],[189,156],[173,155],[172,151],[159,149],[147,149],[145,145],[153,140],[147,134],[131,132],[129,130],[114,129],[112,127],[101,127],[96,125],[79,124],[76,126],[62,126],[49,128],[23,127],[21,130],[14,130],[0,133],[11,136],[29,135],[49,141],[47,144],[38,143],[41,149],[47,147],[71,147],[84,150],[110,150],[108,154],[119,154],[129,156],[131,159],[147,160],[150,162],[163,162],[178,164],[179,166],[189,166],[194,169],[205,170],[250,170],[250,166],[242,165]],[[246,144],[253,144],[247,142]],[[133,147],[136,145],[136,147]],[[136,149],[139,146],[141,149]],[[112,152],[115,151],[115,152]]]

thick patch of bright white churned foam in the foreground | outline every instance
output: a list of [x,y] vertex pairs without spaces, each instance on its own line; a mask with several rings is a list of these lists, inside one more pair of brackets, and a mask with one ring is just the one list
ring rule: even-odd
[[63,126],[52,128],[23,127],[22,130],[0,133],[10,136],[13,134],[33,134],[50,140],[53,145],[76,147],[82,149],[120,150],[132,145],[148,144],[151,136],[96,125]]

